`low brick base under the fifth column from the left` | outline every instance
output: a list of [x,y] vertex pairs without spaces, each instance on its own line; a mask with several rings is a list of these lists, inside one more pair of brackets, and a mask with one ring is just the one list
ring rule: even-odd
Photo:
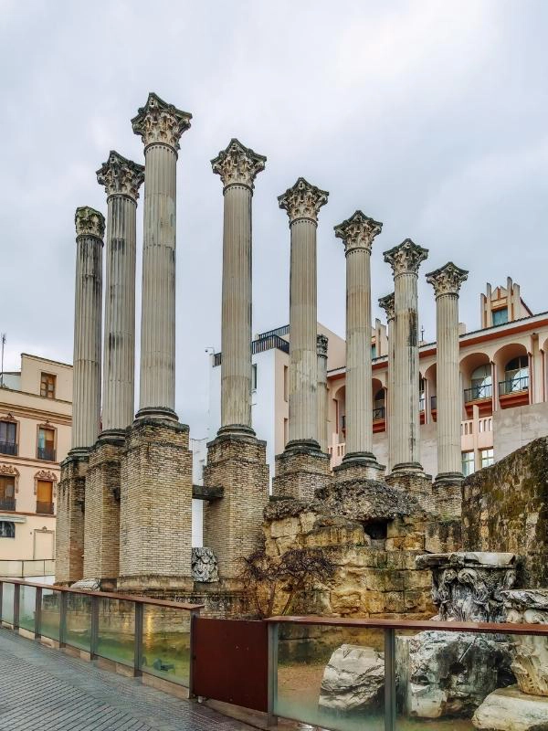
[[329,454],[303,447],[276,455],[276,477],[272,481],[276,497],[311,500],[316,490],[331,481]]

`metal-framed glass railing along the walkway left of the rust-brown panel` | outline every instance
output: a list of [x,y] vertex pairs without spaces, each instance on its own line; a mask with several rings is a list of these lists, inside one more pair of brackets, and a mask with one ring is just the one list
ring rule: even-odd
[[192,694],[192,627],[204,605],[0,579],[0,620],[90,660],[102,658]]

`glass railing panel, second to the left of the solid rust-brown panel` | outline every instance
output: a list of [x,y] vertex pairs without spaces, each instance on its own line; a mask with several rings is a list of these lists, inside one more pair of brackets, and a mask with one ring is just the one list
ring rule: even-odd
[[119,599],[99,599],[97,654],[133,667],[134,652],[134,603]]

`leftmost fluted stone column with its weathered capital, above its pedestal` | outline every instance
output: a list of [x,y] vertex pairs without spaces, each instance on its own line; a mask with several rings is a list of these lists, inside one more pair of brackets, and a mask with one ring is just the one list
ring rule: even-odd
[[76,209],[76,298],[71,452],[90,450],[100,429],[102,248],[105,219],[88,206]]

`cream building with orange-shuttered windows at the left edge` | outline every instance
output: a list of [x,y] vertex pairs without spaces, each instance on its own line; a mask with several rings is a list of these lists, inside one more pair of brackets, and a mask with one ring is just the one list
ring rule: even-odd
[[59,464],[70,449],[72,366],[21,355],[0,387],[0,576],[53,577]]

